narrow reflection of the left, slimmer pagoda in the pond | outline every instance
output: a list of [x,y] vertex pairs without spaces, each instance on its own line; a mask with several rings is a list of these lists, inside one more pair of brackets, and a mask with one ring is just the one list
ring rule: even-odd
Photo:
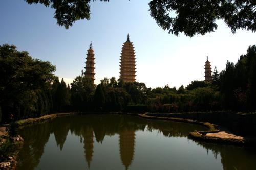
[[86,161],[88,164],[88,167],[90,168],[90,163],[93,159],[93,129],[87,127],[83,132],[83,143],[84,143],[84,154],[86,156]]

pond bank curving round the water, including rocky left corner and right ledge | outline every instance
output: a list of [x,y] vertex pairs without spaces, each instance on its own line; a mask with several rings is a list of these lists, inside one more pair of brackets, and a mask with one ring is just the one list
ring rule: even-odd
[[[1,144],[0,144],[0,169],[15,169],[17,163],[17,154],[22,147],[23,138],[18,135],[18,129],[31,124],[40,123],[60,116],[74,116],[78,114],[126,114],[132,116],[139,116],[146,119],[156,119],[156,120],[169,120],[175,122],[185,122],[191,124],[198,124],[209,128],[208,131],[196,131],[190,132],[189,138],[194,140],[202,140],[205,142],[214,142],[220,144],[232,144],[232,145],[254,145],[256,143],[255,137],[243,137],[233,135],[228,131],[222,130],[218,125],[209,122],[202,122],[193,119],[193,114],[199,113],[186,113],[191,114],[190,118],[184,115],[185,113],[127,113],[127,112],[72,112],[72,113],[56,113],[44,115],[38,118],[28,118],[24,120],[18,120],[8,125],[8,131],[6,132],[6,127],[1,127]],[[208,112],[200,112],[200,114],[209,114]],[[211,113],[216,114],[216,113]],[[180,115],[180,116],[179,116]],[[7,126],[7,125],[6,125]]]

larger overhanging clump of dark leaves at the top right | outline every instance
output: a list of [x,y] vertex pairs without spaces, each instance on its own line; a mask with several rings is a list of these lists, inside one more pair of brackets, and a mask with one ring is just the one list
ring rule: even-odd
[[237,29],[256,31],[255,3],[249,0],[152,0],[149,5],[158,25],[176,36],[182,32],[189,37],[213,32],[219,19],[224,20],[232,33]]

